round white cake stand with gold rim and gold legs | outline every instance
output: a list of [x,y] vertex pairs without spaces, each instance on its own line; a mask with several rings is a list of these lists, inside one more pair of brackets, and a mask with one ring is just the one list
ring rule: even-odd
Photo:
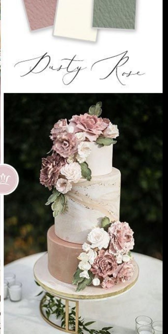
[[[134,261],[134,260],[133,260]],[[139,268],[137,263],[134,261],[135,271],[130,281],[120,283],[111,289],[102,289],[101,287],[88,286],[82,292],[76,292],[76,286],[68,283],[63,283],[55,279],[48,271],[48,254],[44,254],[34,266],[34,278],[36,282],[49,294],[54,297],[65,300],[65,328],[56,325],[54,322],[49,320],[43,312],[44,298],[40,302],[40,314],[42,318],[51,326],[67,332],[67,333],[78,333],[78,321],[79,321],[79,301],[80,300],[101,300],[106,298],[114,298],[121,296],[130,290],[138,280]],[[74,302],[76,306],[75,315],[75,330],[69,328],[69,302]]]

